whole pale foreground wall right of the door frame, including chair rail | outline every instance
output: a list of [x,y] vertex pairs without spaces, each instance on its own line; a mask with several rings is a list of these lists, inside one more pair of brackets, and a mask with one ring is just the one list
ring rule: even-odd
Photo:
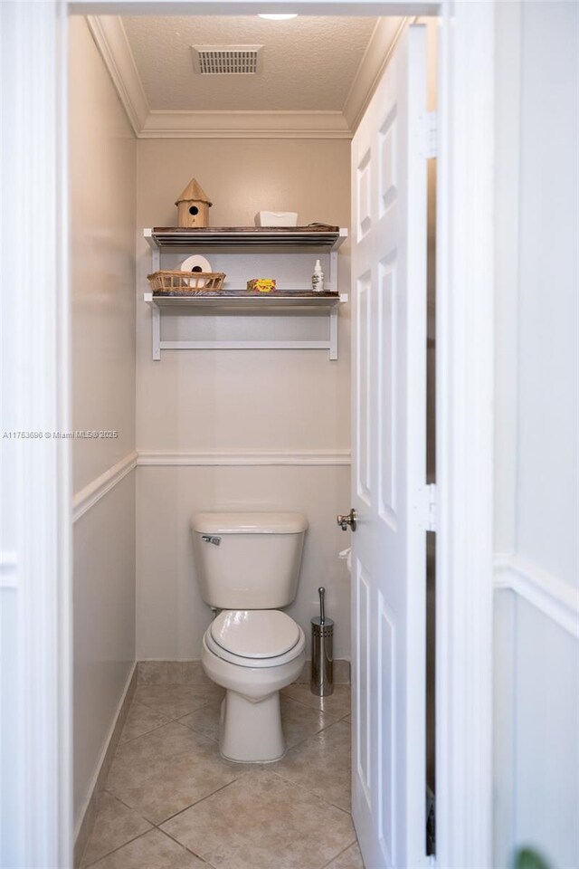
[[579,864],[578,14],[498,4],[497,866]]

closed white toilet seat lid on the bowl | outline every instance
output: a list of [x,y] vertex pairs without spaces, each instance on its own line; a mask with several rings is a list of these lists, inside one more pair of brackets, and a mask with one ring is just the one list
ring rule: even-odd
[[304,650],[299,625],[279,610],[224,610],[205,631],[207,648],[241,667],[277,667]]

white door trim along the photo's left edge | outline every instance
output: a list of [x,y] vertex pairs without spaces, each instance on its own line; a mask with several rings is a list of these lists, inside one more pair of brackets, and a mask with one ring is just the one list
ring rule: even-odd
[[0,4],[0,864],[26,869],[72,864],[71,442],[52,436],[70,429],[66,14]]

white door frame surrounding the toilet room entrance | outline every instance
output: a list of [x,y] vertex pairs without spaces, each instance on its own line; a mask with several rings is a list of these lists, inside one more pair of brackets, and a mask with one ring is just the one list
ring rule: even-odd
[[[9,348],[3,390],[20,396],[19,425],[46,431],[71,429],[67,16],[255,14],[272,7],[440,16],[436,862],[444,869],[490,866],[494,4],[19,0],[0,7],[0,64],[5,93],[12,95],[0,153],[4,277],[15,281],[32,245],[43,262],[37,291],[5,289],[18,336]],[[31,239],[23,227],[32,208],[33,225],[43,232]],[[5,280],[4,288],[9,285]],[[29,450],[23,446],[23,463]],[[0,586],[0,595],[8,587],[15,592],[24,615],[10,650],[18,676],[29,685],[43,674],[43,690],[21,707],[25,740],[14,749],[27,762],[13,787],[28,817],[14,830],[14,848],[21,849],[14,853],[27,855],[26,866],[61,869],[72,865],[70,467],[69,440],[43,441],[33,473],[14,482],[11,502],[26,505],[34,535],[30,540],[23,526],[8,540]]]

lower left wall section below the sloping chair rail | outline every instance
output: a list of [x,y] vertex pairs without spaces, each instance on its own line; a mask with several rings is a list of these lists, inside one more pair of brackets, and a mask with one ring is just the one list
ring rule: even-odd
[[74,526],[77,824],[135,661],[135,473]]

